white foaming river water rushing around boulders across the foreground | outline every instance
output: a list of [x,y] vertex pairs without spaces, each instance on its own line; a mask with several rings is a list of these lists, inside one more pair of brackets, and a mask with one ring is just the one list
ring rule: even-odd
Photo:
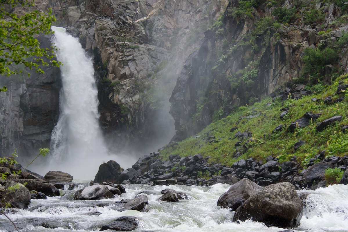
[[[79,185],[78,188],[84,187]],[[99,231],[105,225],[121,216],[135,216],[139,227],[135,231],[148,232],[277,232],[284,229],[267,227],[262,223],[246,221],[232,222],[233,212],[216,206],[220,195],[230,185],[216,184],[199,186],[149,186],[125,185],[127,193],[113,199],[98,201],[68,200],[71,191],[64,190],[63,197],[47,200],[31,200],[27,210],[10,211],[7,215],[20,231]],[[179,202],[158,201],[159,195],[147,195],[146,211],[118,211],[116,201],[133,199],[142,190],[160,191],[171,188],[188,193],[191,200]],[[304,191],[304,190],[303,190]],[[299,191],[299,192],[303,192]],[[301,224],[294,231],[305,232],[348,232],[348,185],[332,185],[327,188],[307,191]],[[100,212],[99,216],[91,214]],[[0,231],[14,231],[13,225],[0,216]]]

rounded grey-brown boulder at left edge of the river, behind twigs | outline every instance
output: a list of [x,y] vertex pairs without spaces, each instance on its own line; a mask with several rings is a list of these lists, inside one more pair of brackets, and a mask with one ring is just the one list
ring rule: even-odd
[[[15,187],[13,191],[9,191],[9,187]],[[10,204],[10,207],[25,209],[28,208],[30,204],[31,195],[29,190],[21,183],[16,183],[14,181],[7,181],[4,186],[4,190],[1,193],[2,199],[0,201],[0,207],[5,207],[6,203]]]

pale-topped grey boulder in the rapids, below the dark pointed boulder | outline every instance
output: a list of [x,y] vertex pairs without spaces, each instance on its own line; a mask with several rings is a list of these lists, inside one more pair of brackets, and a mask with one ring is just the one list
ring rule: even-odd
[[[114,195],[109,191],[108,185],[92,185],[76,191],[74,200],[100,200],[113,198]],[[111,187],[112,188],[112,187]]]

